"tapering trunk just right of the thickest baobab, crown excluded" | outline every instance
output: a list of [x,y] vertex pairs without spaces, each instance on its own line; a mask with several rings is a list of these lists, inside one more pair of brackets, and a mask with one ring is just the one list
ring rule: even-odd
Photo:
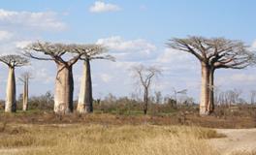
[[90,113],[93,111],[92,107],[92,85],[90,61],[85,60],[83,63],[83,73],[80,80],[80,97],[77,110],[80,113]]

